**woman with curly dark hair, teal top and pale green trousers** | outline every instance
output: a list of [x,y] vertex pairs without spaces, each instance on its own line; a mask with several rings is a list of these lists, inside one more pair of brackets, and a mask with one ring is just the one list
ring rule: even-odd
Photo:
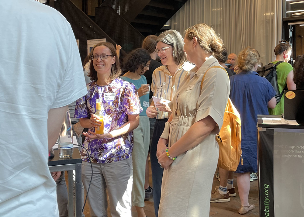
[[134,129],[133,160],[133,194],[132,205],[135,206],[138,217],[146,217],[145,206],[145,173],[146,159],[150,144],[150,121],[146,110],[149,106],[149,84],[143,74],[149,69],[150,54],[143,48],[131,51],[125,59],[125,69],[128,70],[121,78],[135,85],[140,97],[143,111],[140,113],[139,126]]

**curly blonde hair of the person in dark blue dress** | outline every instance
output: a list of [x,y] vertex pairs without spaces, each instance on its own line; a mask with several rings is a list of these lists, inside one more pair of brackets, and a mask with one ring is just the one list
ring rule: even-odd
[[259,61],[259,53],[251,47],[246,47],[239,53],[237,57],[237,64],[240,70],[245,72],[251,71],[255,64],[257,64]]

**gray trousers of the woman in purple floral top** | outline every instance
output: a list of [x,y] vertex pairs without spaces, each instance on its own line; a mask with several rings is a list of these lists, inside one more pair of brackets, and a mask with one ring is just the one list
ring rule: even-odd
[[[133,184],[132,158],[112,163],[93,165],[93,179],[88,193],[91,217],[107,217],[107,192],[112,217],[131,217],[131,191]],[[82,183],[87,192],[91,179],[91,165],[81,165]]]

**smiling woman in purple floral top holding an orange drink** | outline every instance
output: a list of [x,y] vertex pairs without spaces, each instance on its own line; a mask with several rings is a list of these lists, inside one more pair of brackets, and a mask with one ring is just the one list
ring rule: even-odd
[[[133,84],[119,78],[121,69],[116,49],[111,43],[98,43],[93,48],[88,94],[76,102],[75,118],[89,128],[83,145],[88,149],[93,164],[93,179],[88,194],[91,216],[107,215],[107,193],[114,217],[131,216],[133,183],[133,129],[139,124],[142,111]],[[95,114],[96,99],[102,103],[104,134],[95,134],[101,126]],[[81,150],[82,182],[87,191],[91,178],[88,154]]]

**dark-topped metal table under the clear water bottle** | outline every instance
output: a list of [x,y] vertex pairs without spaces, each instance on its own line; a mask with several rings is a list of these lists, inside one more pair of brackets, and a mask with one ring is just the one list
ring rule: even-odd
[[[74,148],[73,155],[68,159],[59,158],[58,149],[54,150],[54,157],[49,159],[48,166],[50,172],[67,171],[68,175],[68,209],[69,217],[74,216],[75,210],[76,217],[81,217],[81,156],[78,148]],[[73,170],[75,170],[75,208],[73,202]]]

